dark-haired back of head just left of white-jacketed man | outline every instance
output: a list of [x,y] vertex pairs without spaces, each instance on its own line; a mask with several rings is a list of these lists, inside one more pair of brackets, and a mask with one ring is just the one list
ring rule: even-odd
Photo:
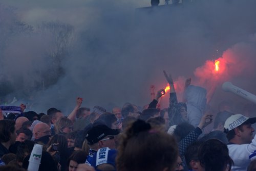
[[202,143],[199,149],[199,161],[205,171],[229,171],[233,164],[229,157],[227,145],[217,139],[210,139]]

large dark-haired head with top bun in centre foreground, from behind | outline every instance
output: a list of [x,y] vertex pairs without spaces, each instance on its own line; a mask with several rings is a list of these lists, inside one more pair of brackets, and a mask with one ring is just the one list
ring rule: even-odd
[[116,159],[117,170],[174,169],[178,157],[175,139],[152,130],[150,124],[137,120],[121,137]]

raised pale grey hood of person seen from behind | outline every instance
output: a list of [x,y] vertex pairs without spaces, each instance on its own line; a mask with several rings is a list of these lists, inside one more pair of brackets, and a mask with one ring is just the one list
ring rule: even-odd
[[192,104],[199,109],[205,109],[206,107],[206,89],[189,85],[185,90],[185,99],[187,100],[187,104]]

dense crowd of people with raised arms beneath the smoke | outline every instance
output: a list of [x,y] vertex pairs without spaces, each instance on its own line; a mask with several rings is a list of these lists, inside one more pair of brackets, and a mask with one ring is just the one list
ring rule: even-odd
[[91,110],[81,107],[80,97],[68,116],[56,108],[25,112],[23,104],[21,113],[0,108],[0,170],[27,170],[34,145],[41,144],[38,170],[255,171],[255,111],[235,114],[222,102],[212,114],[206,110],[211,95],[191,79],[178,102],[172,76],[164,75],[170,86],[164,109],[164,89],[151,89],[152,102],[142,111],[131,103]]

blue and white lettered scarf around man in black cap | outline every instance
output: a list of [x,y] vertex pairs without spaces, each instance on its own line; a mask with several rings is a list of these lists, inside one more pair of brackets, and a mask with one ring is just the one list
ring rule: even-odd
[[116,169],[116,155],[117,151],[110,148],[101,148],[94,154],[92,159],[92,166],[97,170],[97,166],[100,164],[111,164]]

